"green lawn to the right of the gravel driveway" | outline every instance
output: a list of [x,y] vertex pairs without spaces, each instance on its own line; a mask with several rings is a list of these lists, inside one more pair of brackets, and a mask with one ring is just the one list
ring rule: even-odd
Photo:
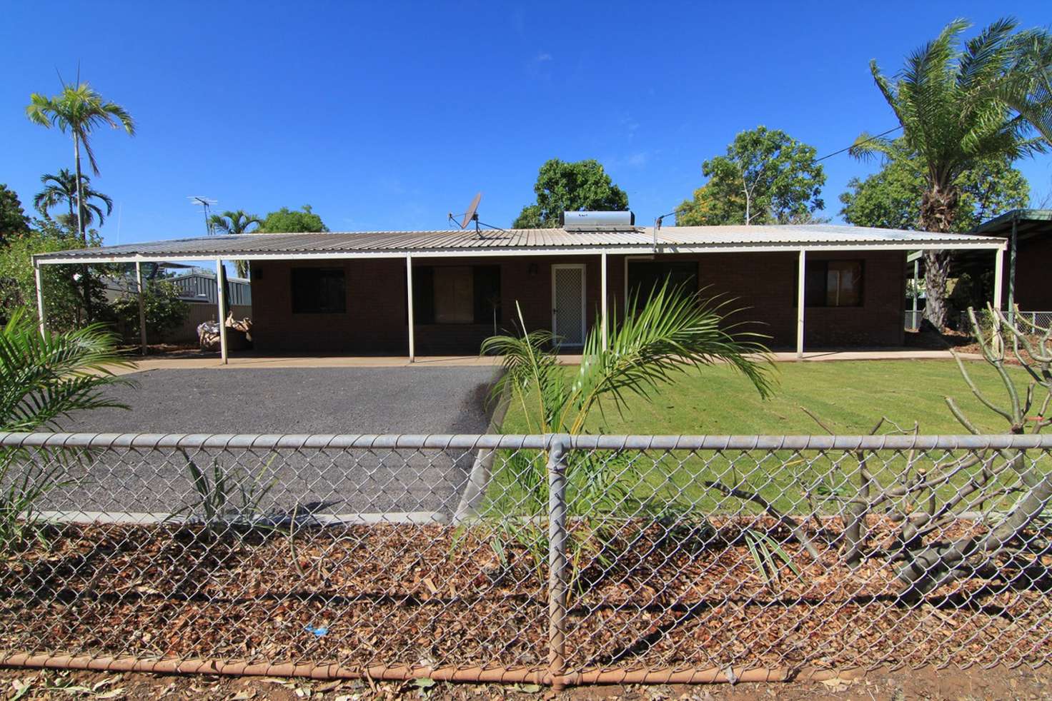
[[[824,431],[800,407],[807,407],[821,416],[837,433],[868,433],[873,425],[887,416],[903,428],[914,421],[922,433],[966,433],[951,415],[945,397],[953,396],[971,420],[982,430],[1003,433],[1003,418],[979,404],[960,377],[952,360],[863,360],[828,363],[782,363],[776,367],[777,385],[773,397],[763,400],[749,383],[726,366],[691,370],[669,387],[663,388],[653,401],[631,399],[624,415],[612,404],[605,415],[598,412],[588,425],[589,432],[632,434],[818,434]],[[988,397],[1002,404],[1005,389],[995,371],[984,363],[967,365],[976,385]],[[568,368],[567,372],[572,372]],[[1021,369],[1012,371],[1020,390],[1027,384]],[[888,427],[890,428],[890,427]],[[527,426],[521,407],[512,406],[503,422],[505,433],[524,433]],[[882,430],[887,432],[887,428]],[[957,454],[959,457],[960,454]],[[505,463],[505,454],[494,468],[490,487],[491,506],[498,513],[521,512],[527,492],[515,472],[524,468],[520,455]],[[925,456],[907,466],[907,455],[874,456],[871,470],[883,484],[896,481],[903,474],[918,468],[933,470],[942,454]],[[1047,458],[1046,458],[1047,460]],[[1044,460],[1043,460],[1044,461]],[[517,465],[518,462],[518,465]],[[543,463],[539,463],[541,467]],[[626,471],[626,467],[630,471]],[[587,491],[591,480],[604,483],[594,490],[600,494],[608,484],[624,489],[607,508],[619,512],[634,512],[641,502],[706,513],[743,510],[755,513],[758,508],[706,488],[705,481],[737,484],[762,494],[780,509],[790,513],[807,513],[811,509],[835,511],[833,501],[823,497],[851,493],[850,484],[857,480],[857,461],[853,456],[818,455],[814,452],[793,454],[754,453],[687,453],[627,456],[614,453],[596,454],[589,465],[572,469],[569,496]],[[939,499],[952,495],[977,473],[978,468],[959,472],[938,490]],[[620,479],[613,475],[621,475]],[[591,476],[589,476],[591,475]],[[535,476],[534,479],[539,477]],[[612,481],[611,481],[612,480]],[[531,481],[531,480],[528,480]],[[1004,487],[1005,484],[1000,484]],[[808,503],[805,496],[825,503]],[[614,502],[621,502],[620,506]],[[978,508],[979,502],[971,504]],[[604,510],[600,507],[600,510]],[[586,510],[588,511],[588,510]]]

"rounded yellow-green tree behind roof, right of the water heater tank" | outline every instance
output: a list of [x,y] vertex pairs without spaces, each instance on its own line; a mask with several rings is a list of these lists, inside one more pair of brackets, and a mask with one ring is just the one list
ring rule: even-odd
[[676,208],[677,226],[816,221],[826,174],[812,146],[780,129],[742,131],[726,156],[702,164],[708,181]]

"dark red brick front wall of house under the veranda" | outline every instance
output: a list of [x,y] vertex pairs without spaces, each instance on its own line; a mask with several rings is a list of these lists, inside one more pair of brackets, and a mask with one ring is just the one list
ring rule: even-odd
[[[862,259],[865,261],[862,307],[812,308],[805,311],[805,343],[829,346],[897,346],[903,343],[905,308],[905,253],[809,253],[809,259]],[[683,256],[668,256],[683,260]],[[699,283],[707,294],[736,297],[734,307],[748,307],[732,321],[760,322],[753,330],[772,336],[772,347],[794,347],[796,309],[795,253],[710,253],[699,261]],[[418,259],[417,265],[501,266],[502,319],[499,331],[519,327],[515,303],[527,330],[551,327],[551,266],[578,263],[586,266],[586,317],[589,328],[600,311],[599,255],[500,259]],[[342,314],[294,314],[290,280],[292,267],[342,266],[346,271],[347,311]],[[624,256],[608,257],[608,292],[611,310],[620,316],[624,300]],[[361,354],[407,353],[405,261],[348,260],[327,262],[252,263],[252,335],[258,350],[344,352]],[[1052,308],[1052,307],[1050,307]],[[491,324],[418,325],[419,355],[473,354]]]

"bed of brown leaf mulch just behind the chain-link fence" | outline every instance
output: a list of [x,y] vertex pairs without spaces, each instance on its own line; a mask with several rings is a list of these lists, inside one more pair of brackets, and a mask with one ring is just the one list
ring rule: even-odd
[[[835,520],[822,525],[826,543],[837,537]],[[1038,574],[971,579],[909,607],[886,563],[852,571],[822,542],[820,562],[787,544],[801,576],[783,568],[780,582],[765,583],[741,524],[716,527],[695,542],[650,527],[612,549],[571,549],[568,666],[1049,660],[1050,561]],[[876,538],[890,533],[871,528]],[[547,662],[546,570],[514,548],[502,568],[474,530],[303,528],[290,541],[287,533],[213,538],[92,525],[48,538],[0,570],[0,650],[351,667]]]

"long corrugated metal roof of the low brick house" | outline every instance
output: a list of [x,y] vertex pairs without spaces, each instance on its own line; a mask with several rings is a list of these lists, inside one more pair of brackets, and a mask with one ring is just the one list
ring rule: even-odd
[[[656,248],[655,248],[656,242]],[[508,229],[243,233],[122,244],[35,256],[40,263],[302,259],[517,253],[652,253],[722,250],[999,248],[995,236],[828,224],[651,227],[633,231]]]

